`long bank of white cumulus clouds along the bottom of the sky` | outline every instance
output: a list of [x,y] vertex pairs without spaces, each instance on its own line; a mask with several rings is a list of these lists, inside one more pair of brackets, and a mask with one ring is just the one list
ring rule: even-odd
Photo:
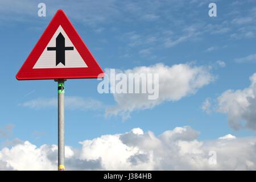
[[[228,137],[226,137],[228,136]],[[66,146],[68,170],[255,170],[256,138],[199,140],[189,126],[176,127],[156,136],[133,129],[123,134],[102,135],[81,141],[81,148]],[[230,139],[232,138],[232,139]],[[216,164],[209,162],[216,154]],[[30,156],[29,158],[27,156]],[[56,170],[57,146],[36,147],[26,141],[0,150],[0,169]]]

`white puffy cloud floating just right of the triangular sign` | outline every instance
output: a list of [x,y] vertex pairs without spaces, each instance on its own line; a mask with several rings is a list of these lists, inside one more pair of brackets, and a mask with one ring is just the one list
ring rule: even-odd
[[[110,73],[109,69],[106,73]],[[192,64],[176,64],[171,67],[164,64],[155,64],[149,67],[135,67],[118,73],[129,75],[129,73],[155,74],[159,76],[159,97],[156,100],[148,100],[148,94],[123,94],[114,93],[114,100],[117,105],[106,109],[106,116],[121,115],[125,120],[130,117],[134,110],[150,109],[164,101],[178,101],[185,96],[195,94],[197,90],[214,81],[214,76],[209,68]],[[110,81],[110,86],[115,86],[115,81]],[[147,80],[147,85],[152,84],[156,88],[154,81]],[[140,86],[141,81],[134,81],[135,86]]]

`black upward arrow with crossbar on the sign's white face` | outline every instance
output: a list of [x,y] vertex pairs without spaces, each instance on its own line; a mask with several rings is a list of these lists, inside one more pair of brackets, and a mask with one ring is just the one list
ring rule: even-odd
[[74,47],[65,47],[65,38],[61,33],[56,38],[56,47],[47,47],[47,51],[56,51],[56,65],[65,65],[65,51],[73,49]]

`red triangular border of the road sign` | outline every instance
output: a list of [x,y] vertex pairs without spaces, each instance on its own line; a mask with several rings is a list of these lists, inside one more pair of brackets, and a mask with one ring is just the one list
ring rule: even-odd
[[[88,68],[37,68],[33,69],[36,61],[38,61],[40,55],[46,48],[47,44],[51,40],[53,34],[55,34],[57,28],[61,26],[69,39],[76,47],[80,56],[85,61]],[[30,55],[20,68],[16,75],[17,80],[49,80],[49,79],[73,79],[73,78],[98,78],[104,77],[100,65],[94,59],[92,53],[86,47],[81,37],[72,26],[67,15],[63,10],[57,10],[53,16],[51,22],[43,32],[42,36],[32,49]]]

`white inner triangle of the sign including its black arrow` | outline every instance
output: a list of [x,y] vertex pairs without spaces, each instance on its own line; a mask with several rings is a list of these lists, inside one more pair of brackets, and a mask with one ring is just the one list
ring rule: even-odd
[[33,69],[38,68],[87,68],[85,61],[72,44],[67,34],[59,26],[36,61]]

